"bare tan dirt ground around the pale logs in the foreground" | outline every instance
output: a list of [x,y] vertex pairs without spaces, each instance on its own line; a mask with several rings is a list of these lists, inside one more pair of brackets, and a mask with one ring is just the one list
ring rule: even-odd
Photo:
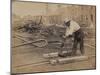
[[[24,41],[13,37],[12,47],[22,44],[23,42]],[[87,41],[85,41],[85,43],[87,43]],[[89,40],[88,44],[94,44],[94,47],[85,45],[85,56],[95,55],[95,39]],[[68,64],[51,65],[46,63],[45,61],[47,61],[47,59],[43,58],[43,54],[57,51],[58,49],[56,48],[39,48],[32,46],[31,44],[12,48],[12,73],[35,73],[96,68],[95,57],[91,57],[88,60],[72,62]]]

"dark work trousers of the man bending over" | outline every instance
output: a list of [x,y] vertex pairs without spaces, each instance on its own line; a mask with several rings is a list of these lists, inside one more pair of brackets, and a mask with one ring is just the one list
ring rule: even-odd
[[72,55],[76,54],[78,44],[80,46],[80,52],[83,55],[85,51],[84,51],[84,33],[82,29],[77,30],[76,32],[73,33],[73,35],[74,35],[74,43],[73,43]]

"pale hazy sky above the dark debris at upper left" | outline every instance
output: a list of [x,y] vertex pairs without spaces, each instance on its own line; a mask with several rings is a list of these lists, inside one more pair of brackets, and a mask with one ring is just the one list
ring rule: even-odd
[[[66,7],[66,5],[61,5],[61,7]],[[41,14],[43,15],[46,14],[46,12],[54,13],[58,9],[59,9],[58,4],[21,2],[21,1],[14,1],[12,3],[12,12],[20,16],[41,15]]]

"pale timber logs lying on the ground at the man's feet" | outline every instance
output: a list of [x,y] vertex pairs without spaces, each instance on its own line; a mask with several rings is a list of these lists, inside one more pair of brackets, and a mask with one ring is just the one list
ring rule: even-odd
[[[69,54],[72,50],[69,51],[63,51],[62,53]],[[92,57],[95,57],[95,55],[92,56],[85,56],[85,55],[76,55],[76,56],[66,56],[66,57],[59,57],[59,52],[54,53],[48,53],[43,54],[43,57],[48,60],[48,62],[52,65],[56,64],[68,64],[68,63],[74,63],[74,62],[80,62],[80,61],[86,61]]]

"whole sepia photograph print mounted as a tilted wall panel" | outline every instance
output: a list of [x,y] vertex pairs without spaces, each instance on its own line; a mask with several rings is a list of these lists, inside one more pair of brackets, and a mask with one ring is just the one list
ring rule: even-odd
[[12,0],[12,74],[95,69],[95,5]]

